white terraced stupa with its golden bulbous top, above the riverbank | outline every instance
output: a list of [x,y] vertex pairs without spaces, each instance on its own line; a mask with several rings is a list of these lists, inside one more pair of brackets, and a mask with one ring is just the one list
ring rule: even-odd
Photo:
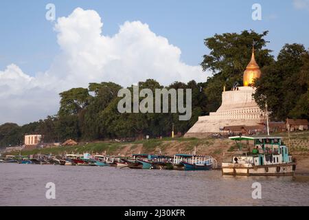
[[199,117],[198,122],[185,133],[185,137],[205,137],[211,133],[221,133],[227,126],[260,126],[263,112],[253,99],[255,88],[251,87],[253,80],[260,78],[260,75],[253,48],[251,61],[244,71],[244,86],[232,91],[223,91],[220,108],[216,112]]

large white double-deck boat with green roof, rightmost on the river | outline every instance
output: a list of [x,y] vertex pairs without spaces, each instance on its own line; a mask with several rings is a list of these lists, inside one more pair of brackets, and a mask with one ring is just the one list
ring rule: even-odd
[[[289,155],[282,137],[260,136],[229,137],[238,145],[238,153],[231,155],[230,162],[222,163],[222,175],[244,176],[293,176],[296,161]],[[242,141],[247,142],[247,151]],[[249,144],[253,142],[253,144]],[[252,151],[250,151],[253,149]]]

